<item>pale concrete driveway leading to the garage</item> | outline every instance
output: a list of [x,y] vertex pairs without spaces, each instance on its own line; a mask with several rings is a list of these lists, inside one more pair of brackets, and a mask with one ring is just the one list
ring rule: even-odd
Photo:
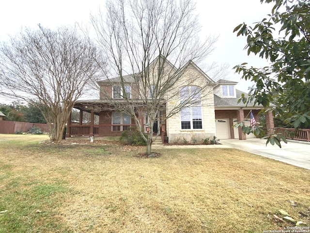
[[279,148],[277,145],[268,144],[266,146],[265,139],[257,138],[247,140],[222,139],[219,142],[224,146],[310,169],[310,143],[296,143],[290,140],[287,144],[281,142],[282,148]]

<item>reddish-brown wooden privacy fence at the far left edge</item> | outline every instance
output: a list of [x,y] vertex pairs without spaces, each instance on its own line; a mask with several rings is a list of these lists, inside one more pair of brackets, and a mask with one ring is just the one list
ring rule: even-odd
[[48,132],[47,124],[0,120],[0,133],[28,132],[32,126],[39,127],[42,132]]

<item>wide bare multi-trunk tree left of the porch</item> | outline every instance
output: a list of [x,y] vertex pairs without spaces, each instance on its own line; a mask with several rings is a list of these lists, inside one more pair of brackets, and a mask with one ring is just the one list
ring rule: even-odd
[[59,142],[74,102],[96,78],[97,53],[76,28],[25,29],[0,45],[0,94],[36,105]]

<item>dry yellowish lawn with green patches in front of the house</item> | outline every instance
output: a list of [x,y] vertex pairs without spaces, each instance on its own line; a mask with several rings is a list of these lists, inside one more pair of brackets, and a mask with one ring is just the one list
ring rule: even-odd
[[232,149],[145,159],[43,137],[0,134],[0,232],[256,233],[293,226],[279,209],[310,226],[309,170]]

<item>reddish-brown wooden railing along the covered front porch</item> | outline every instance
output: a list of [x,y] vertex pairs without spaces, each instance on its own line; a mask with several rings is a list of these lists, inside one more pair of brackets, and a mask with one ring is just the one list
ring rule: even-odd
[[98,136],[117,136],[131,127],[136,127],[136,125],[93,125],[93,132],[91,132],[91,125],[70,125],[67,132],[71,136],[87,136],[90,133]]

